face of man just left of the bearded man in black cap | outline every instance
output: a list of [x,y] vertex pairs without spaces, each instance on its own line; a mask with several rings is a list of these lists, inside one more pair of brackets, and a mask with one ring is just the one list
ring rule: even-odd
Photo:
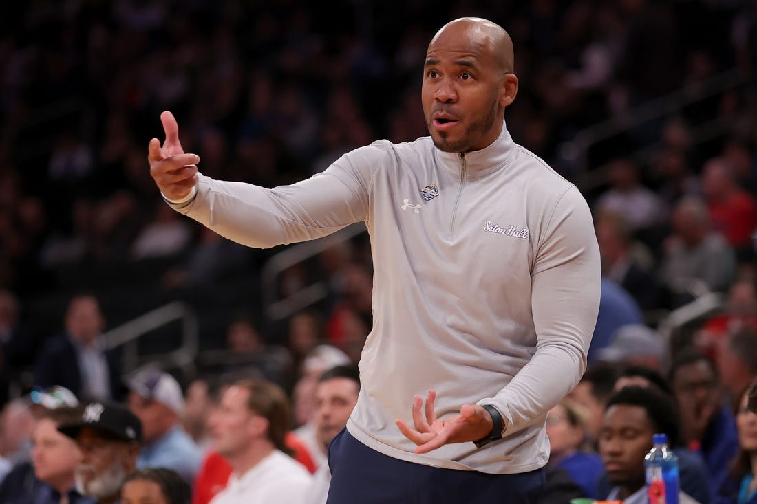
[[74,471],[82,459],[76,442],[58,432],[58,426],[50,418],[37,422],[33,441],[34,475],[59,491],[72,487]]

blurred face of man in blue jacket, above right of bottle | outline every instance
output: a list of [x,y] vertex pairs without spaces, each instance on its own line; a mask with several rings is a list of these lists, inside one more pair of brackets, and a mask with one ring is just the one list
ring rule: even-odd
[[720,405],[718,377],[705,360],[699,359],[678,368],[671,387],[684,415],[696,415],[706,410],[711,410],[712,415],[717,412]]

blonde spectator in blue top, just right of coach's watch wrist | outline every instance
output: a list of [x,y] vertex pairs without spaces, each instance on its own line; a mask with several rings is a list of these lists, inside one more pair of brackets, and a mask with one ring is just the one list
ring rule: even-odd
[[562,468],[581,487],[584,497],[597,499],[597,484],[603,473],[602,459],[593,451],[584,450],[587,412],[565,398],[547,415],[547,437],[550,438],[550,462]]

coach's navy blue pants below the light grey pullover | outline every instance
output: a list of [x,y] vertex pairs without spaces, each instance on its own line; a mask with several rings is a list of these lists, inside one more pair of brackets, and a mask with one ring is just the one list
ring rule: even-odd
[[544,469],[485,474],[436,468],[372,450],[347,429],[329,445],[332,482],[328,504],[535,504]]

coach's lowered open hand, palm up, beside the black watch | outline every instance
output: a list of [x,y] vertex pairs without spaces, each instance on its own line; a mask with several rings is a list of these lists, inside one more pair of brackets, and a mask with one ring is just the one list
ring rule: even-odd
[[[400,432],[418,445],[414,453],[428,453],[450,443],[478,441],[491,432],[494,423],[489,412],[482,406],[464,404],[460,408],[459,415],[439,420],[434,410],[435,400],[434,390],[428,390],[425,408],[419,396],[413,398],[414,429],[403,420],[395,422]],[[425,409],[425,415],[422,414],[421,409]]]

